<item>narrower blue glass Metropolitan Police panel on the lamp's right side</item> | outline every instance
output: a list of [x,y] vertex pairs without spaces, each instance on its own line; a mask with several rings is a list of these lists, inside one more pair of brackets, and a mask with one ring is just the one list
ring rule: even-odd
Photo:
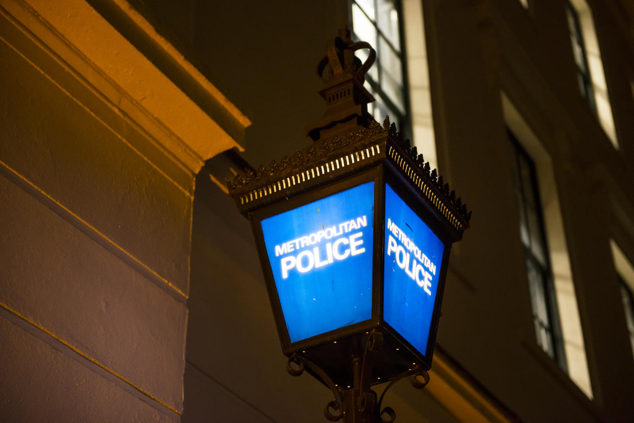
[[444,245],[385,185],[384,320],[422,355],[443,261]]

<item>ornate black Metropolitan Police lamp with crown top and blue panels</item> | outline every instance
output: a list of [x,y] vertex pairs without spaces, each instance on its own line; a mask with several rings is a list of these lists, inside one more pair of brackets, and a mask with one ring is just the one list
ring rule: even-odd
[[391,422],[371,387],[429,382],[450,248],[471,214],[389,118],[368,114],[375,57],[340,30],[318,65],[327,107],[307,128],[312,145],[227,181],[252,225],[287,370],[331,389],[331,421]]

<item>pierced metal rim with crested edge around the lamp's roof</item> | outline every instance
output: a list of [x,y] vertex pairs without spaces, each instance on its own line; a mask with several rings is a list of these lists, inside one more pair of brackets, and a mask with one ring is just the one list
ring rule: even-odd
[[306,185],[313,186],[378,160],[388,160],[404,178],[410,179],[462,237],[471,219],[467,204],[456,198],[449,184],[438,176],[436,169],[430,168],[417,148],[410,147],[410,140],[402,139],[389,117],[385,117],[383,127],[371,120],[368,127],[361,126],[356,133],[347,131],[342,139],[333,136],[329,141],[314,141],[304,150],[297,150],[293,157],[282,157],[279,164],[273,160],[268,168],[262,165],[244,178],[236,174],[233,181],[225,181],[238,209],[247,215],[261,205],[296,193],[297,185],[310,181]]

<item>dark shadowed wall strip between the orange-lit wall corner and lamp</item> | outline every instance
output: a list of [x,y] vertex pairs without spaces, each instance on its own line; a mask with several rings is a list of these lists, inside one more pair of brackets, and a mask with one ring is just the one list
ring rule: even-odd
[[205,169],[190,260],[183,423],[323,422],[330,391],[287,374],[249,222]]

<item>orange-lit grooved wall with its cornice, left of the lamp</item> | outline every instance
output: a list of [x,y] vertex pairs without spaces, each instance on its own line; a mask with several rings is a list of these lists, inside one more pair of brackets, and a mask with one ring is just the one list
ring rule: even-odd
[[249,120],[84,1],[0,2],[0,58],[0,420],[179,421],[194,177]]

